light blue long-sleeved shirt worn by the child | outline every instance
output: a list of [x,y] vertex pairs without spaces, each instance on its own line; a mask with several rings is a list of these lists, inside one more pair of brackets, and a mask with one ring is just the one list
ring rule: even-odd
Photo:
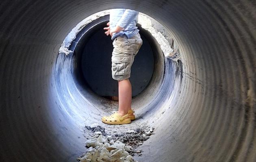
[[115,26],[124,28],[124,31],[113,33],[111,39],[114,40],[117,36],[126,35],[127,38],[135,36],[139,29],[136,24],[138,23],[138,11],[130,9],[111,9],[110,11],[110,29],[114,29]]

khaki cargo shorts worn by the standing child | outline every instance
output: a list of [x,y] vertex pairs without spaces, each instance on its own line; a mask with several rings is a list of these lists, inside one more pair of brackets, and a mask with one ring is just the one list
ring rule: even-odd
[[129,39],[127,36],[115,38],[111,58],[113,79],[121,81],[130,78],[131,66],[141,45],[142,39],[139,33]]

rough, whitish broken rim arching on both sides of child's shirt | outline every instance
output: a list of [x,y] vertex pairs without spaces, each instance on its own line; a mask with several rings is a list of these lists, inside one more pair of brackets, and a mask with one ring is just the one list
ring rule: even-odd
[[[100,17],[109,15],[109,13],[110,13],[110,10],[100,11],[98,13],[95,13],[85,18],[80,23],[78,23],[71,30],[71,32],[69,32],[67,37],[63,40],[63,43],[61,44],[61,47],[59,49],[59,53],[65,53],[66,55],[68,55],[69,53],[72,53],[73,51],[69,50],[69,46],[71,45],[72,41],[76,38],[76,35],[78,34],[78,32],[80,32],[82,28],[84,28],[87,24],[91,23],[92,21]],[[138,23],[141,25],[141,28],[150,32],[150,34],[156,39],[165,57],[171,58],[172,60],[180,59],[178,46],[176,45],[176,43],[174,43],[173,38],[166,31],[166,29],[161,25],[161,23],[159,23],[152,17],[145,15],[143,13],[139,13]]]

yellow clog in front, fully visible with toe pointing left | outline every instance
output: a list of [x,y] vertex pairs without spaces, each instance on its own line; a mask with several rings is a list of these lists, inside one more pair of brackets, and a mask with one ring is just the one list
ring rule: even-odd
[[120,116],[118,113],[114,113],[110,116],[104,116],[102,117],[102,122],[105,124],[130,124],[131,119],[129,114],[126,114],[124,116]]

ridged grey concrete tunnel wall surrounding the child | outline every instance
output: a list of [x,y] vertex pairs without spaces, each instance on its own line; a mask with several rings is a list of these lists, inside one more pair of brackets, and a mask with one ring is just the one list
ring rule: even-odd
[[85,151],[82,128],[108,113],[108,99],[82,84],[78,57],[58,50],[82,19],[112,8],[153,17],[180,51],[171,60],[151,41],[152,77],[132,106],[155,134],[139,161],[255,162],[252,0],[2,1],[0,161],[69,162]]

